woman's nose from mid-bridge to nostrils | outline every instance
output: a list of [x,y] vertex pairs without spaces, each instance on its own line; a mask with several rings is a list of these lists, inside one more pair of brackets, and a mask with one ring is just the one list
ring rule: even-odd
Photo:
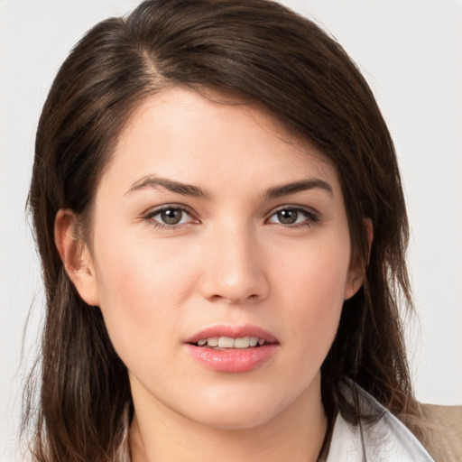
[[263,251],[245,227],[217,230],[209,236],[203,257],[199,287],[207,300],[243,304],[267,297]]

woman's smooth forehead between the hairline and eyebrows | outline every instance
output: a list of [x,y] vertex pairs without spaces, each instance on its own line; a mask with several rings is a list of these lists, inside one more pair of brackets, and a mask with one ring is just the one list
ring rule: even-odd
[[117,176],[128,188],[148,174],[207,180],[210,187],[216,178],[221,188],[244,187],[255,176],[254,188],[307,175],[337,183],[327,158],[261,107],[181,87],[164,89],[134,110],[102,180]]

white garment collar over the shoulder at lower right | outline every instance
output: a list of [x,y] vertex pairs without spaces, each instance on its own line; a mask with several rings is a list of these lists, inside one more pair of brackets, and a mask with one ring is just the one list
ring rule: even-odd
[[[432,462],[420,441],[400,420],[373,396],[361,387],[353,384],[356,393],[352,402],[357,400],[361,411],[377,416],[374,420],[360,420],[357,425],[345,420],[341,413],[337,414],[328,462]],[[347,394],[347,393],[346,393]]]

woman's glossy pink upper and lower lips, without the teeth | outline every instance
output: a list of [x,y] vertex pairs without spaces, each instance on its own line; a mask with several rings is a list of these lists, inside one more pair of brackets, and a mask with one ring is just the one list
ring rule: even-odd
[[[210,337],[258,337],[265,340],[261,347],[213,349],[199,347],[197,342]],[[272,334],[255,326],[215,326],[204,329],[186,340],[186,348],[200,364],[217,372],[245,373],[269,361],[276,353],[279,343]]]

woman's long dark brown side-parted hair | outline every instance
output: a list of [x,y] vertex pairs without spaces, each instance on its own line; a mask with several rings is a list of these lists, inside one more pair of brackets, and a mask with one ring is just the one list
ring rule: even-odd
[[[344,304],[321,368],[328,418],[358,422],[340,383],[358,383],[397,415],[418,416],[399,304],[411,308],[408,222],[392,138],[341,46],[310,20],[266,0],[152,0],[98,23],[70,52],[43,107],[29,205],[42,257],[46,319],[40,404],[24,428],[41,462],[114,460],[131,402],[125,365],[97,307],[80,299],[54,243],[60,208],[88,226],[98,180],[134,110],[171,86],[263,107],[337,169],[364,284]],[[374,225],[369,245],[364,226]],[[32,379],[31,379],[32,380]],[[28,423],[29,422],[29,423]]]

